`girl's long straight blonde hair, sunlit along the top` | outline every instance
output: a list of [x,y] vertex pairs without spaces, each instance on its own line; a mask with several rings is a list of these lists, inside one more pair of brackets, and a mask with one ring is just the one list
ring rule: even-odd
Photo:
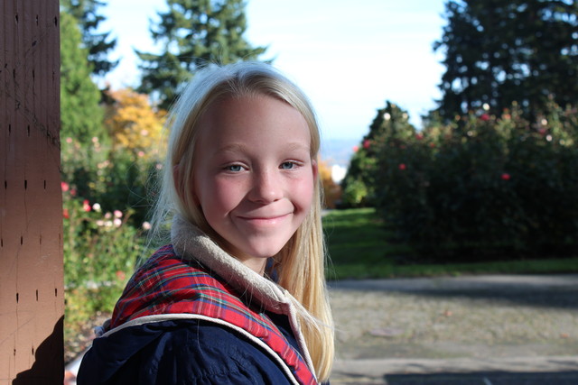
[[[240,62],[201,69],[183,90],[169,117],[171,133],[159,197],[154,208],[154,234],[158,234],[169,217],[176,213],[219,239],[195,204],[190,188],[200,116],[219,97],[256,95],[275,97],[303,115],[311,133],[311,158],[317,159],[321,142],[317,119],[308,98],[294,83],[264,63]],[[275,270],[278,284],[308,311],[308,314],[299,315],[300,324],[316,375],[324,381],[329,379],[331,372],[334,343],[333,320],[325,286],[321,211],[322,185],[318,179],[312,209],[275,256]]]

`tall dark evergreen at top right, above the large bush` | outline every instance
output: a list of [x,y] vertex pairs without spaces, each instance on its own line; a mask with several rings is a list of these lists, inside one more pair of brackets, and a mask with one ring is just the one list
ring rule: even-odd
[[[437,112],[500,114],[513,102],[526,114],[578,101],[578,4],[568,0],[449,1],[434,50],[446,67]],[[572,79],[572,80],[571,80]]]

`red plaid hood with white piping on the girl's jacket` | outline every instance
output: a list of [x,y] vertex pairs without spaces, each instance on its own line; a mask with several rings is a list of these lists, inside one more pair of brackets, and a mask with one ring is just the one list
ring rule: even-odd
[[254,308],[227,282],[167,245],[126,285],[106,335],[129,327],[174,319],[210,321],[245,335],[269,353],[294,383],[316,384],[302,354],[289,344],[262,309]]

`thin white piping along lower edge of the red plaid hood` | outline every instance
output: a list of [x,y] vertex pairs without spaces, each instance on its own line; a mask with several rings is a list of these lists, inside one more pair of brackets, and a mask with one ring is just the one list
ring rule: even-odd
[[[277,362],[281,366],[281,368],[283,368],[283,371],[284,371],[285,375],[287,376],[287,378],[291,379],[291,381],[294,384],[299,385],[299,382],[297,382],[297,380],[295,380],[294,373],[291,371],[289,366],[287,366],[287,364],[283,361],[283,359],[279,356],[279,354],[275,353],[275,351],[273,349],[271,349],[269,347],[269,345],[267,345],[266,343],[264,343],[263,341],[258,339],[255,335],[251,335],[250,333],[247,332],[247,330],[245,330],[241,327],[230,324],[227,321],[223,321],[222,319],[211,318],[210,316],[200,316],[198,314],[187,314],[187,313],[141,316],[139,318],[135,318],[131,321],[126,322],[125,324],[119,325],[119,326],[115,327],[114,329],[107,331],[107,333],[105,333],[104,335],[101,335],[98,338],[106,338],[107,336],[112,335],[114,333],[117,333],[118,331],[123,330],[126,327],[145,325],[145,324],[153,324],[153,323],[159,323],[159,322],[163,322],[163,321],[183,320],[183,319],[199,319],[201,321],[211,322],[214,324],[228,327],[228,328],[240,333],[241,335],[245,335],[251,342],[259,345],[267,353],[269,353],[274,358],[275,362]],[[314,375],[314,372],[313,372],[313,375]]]

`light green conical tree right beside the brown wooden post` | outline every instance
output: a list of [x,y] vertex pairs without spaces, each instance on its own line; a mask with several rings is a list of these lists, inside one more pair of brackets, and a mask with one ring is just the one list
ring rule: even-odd
[[106,137],[100,92],[90,79],[87,50],[70,14],[61,13],[61,137],[87,144]]

